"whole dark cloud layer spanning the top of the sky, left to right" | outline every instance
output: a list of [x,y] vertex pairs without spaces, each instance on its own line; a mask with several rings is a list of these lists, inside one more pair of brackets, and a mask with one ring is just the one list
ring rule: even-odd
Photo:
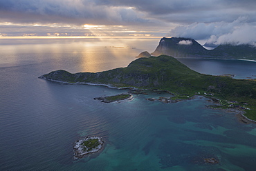
[[[233,21],[248,16],[255,21],[256,1],[222,0],[1,0],[1,18],[49,23],[132,24]],[[132,8],[128,8],[132,7]],[[23,18],[22,18],[23,17]],[[18,21],[16,21],[18,22]]]

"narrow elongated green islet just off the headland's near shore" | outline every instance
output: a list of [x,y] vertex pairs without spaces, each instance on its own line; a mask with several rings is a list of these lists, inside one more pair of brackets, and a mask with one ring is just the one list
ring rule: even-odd
[[131,100],[133,96],[131,94],[117,94],[115,96],[109,96],[109,97],[95,97],[94,100],[100,100],[101,102],[104,103],[111,103],[114,101],[124,101],[124,100]]

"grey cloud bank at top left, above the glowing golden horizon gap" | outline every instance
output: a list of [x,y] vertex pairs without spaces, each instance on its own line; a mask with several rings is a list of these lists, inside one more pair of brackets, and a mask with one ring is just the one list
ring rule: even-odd
[[19,23],[72,23],[129,25],[150,23],[131,8],[101,5],[87,0],[2,0],[1,21]]

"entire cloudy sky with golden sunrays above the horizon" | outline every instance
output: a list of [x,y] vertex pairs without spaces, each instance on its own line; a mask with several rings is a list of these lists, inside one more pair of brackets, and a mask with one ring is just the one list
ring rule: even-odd
[[0,37],[256,42],[255,0],[0,0]]

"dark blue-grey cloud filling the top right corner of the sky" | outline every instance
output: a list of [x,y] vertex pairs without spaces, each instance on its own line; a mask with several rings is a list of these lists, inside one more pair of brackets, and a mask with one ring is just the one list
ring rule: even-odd
[[97,0],[106,6],[131,6],[149,17],[174,23],[233,21],[241,16],[255,21],[255,0]]

